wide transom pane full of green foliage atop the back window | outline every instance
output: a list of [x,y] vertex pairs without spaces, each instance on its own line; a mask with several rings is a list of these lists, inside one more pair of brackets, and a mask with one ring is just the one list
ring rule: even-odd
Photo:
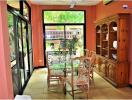
[[44,23],[84,23],[84,12],[44,11]]

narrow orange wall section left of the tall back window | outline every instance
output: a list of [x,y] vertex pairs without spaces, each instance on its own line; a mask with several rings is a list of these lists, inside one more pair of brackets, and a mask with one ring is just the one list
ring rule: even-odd
[[40,6],[31,5],[31,22],[33,37],[33,65],[43,66],[43,27],[42,27],[42,11]]

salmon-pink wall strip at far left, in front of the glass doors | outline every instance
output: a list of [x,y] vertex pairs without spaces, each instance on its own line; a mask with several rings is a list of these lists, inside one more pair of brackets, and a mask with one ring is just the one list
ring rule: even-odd
[[0,1],[0,100],[13,99],[7,5]]

